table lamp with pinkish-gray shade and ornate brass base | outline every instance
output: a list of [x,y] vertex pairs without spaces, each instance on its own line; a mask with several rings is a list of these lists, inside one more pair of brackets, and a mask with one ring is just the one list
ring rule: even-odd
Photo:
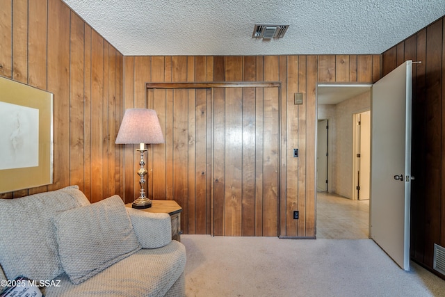
[[131,206],[136,209],[146,209],[152,207],[152,200],[145,196],[145,170],[144,154],[145,144],[164,143],[161,125],[159,125],[158,115],[153,109],[127,109],[120,124],[117,144],[138,144],[140,152],[140,168],[137,174],[140,177],[139,198],[134,200]]

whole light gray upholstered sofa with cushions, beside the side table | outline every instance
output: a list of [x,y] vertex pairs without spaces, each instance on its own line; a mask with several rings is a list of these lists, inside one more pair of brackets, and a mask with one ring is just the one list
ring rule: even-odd
[[46,297],[185,296],[185,264],[170,216],[125,207],[118,195],[90,204],[68,186],[0,199],[3,287],[24,277]]

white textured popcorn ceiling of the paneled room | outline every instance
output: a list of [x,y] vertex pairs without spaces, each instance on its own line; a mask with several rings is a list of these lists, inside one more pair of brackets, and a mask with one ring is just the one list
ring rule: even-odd
[[[64,0],[125,56],[381,54],[445,15],[444,0]],[[290,24],[252,38],[254,24]]]

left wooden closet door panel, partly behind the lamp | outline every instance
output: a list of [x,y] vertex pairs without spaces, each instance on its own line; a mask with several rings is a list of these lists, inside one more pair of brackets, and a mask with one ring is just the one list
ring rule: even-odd
[[152,145],[148,197],[175,200],[185,234],[210,234],[211,89],[150,89],[165,143]]

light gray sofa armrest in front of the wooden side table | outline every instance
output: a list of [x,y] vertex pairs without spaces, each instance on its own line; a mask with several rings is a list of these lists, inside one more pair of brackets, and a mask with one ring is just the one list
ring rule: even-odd
[[127,213],[142,248],[161,248],[172,241],[170,215],[153,214],[129,207]]

